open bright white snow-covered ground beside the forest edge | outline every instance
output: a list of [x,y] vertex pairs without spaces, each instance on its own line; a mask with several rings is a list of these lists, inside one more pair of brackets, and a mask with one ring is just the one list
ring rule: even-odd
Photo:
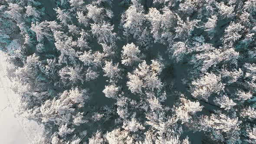
[[35,121],[17,115],[19,96],[11,90],[6,76],[7,62],[0,50],[0,144],[31,144],[42,128]]

